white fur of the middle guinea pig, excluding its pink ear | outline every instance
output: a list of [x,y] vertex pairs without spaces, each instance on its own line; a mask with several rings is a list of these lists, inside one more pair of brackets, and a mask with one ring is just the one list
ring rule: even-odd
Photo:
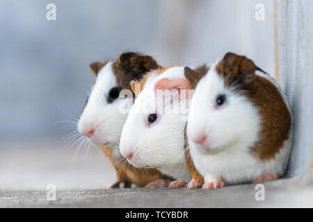
[[184,67],[172,67],[147,79],[122,129],[120,152],[124,156],[134,152],[129,162],[135,167],[154,167],[168,176],[188,181],[191,176],[184,159],[186,122],[182,121],[182,114],[159,114],[157,121],[147,126],[147,118],[158,109],[154,86],[161,78],[185,78]]

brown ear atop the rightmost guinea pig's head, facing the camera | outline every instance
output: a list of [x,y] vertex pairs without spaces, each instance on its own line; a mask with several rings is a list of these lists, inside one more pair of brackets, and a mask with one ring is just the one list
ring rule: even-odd
[[216,65],[218,74],[223,75],[227,85],[248,85],[255,80],[257,67],[246,56],[226,53],[223,60]]

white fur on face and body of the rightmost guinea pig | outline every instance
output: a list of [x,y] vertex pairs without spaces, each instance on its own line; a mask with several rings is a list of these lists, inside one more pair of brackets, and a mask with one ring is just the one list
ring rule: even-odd
[[[241,94],[225,87],[223,78],[216,73],[214,64],[195,88],[188,114],[187,136],[193,162],[204,182],[223,180],[228,184],[251,182],[263,173],[282,176],[287,167],[291,149],[292,128],[289,139],[275,158],[260,162],[250,155],[250,146],[259,140],[261,119],[257,108]],[[256,72],[278,87],[287,107],[286,96],[275,80]],[[226,94],[223,108],[216,110],[214,103],[218,94]],[[289,109],[290,111],[290,109]],[[207,135],[211,151],[193,142],[200,133]]]

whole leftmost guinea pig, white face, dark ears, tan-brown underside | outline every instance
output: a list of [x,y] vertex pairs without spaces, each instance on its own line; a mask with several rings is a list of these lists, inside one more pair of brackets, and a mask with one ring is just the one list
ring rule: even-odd
[[102,148],[115,167],[117,182],[112,188],[120,187],[121,182],[125,183],[125,187],[130,187],[131,183],[142,187],[161,176],[154,169],[135,169],[120,155],[118,149],[120,133],[128,114],[127,110],[122,111],[121,108],[133,103],[131,90],[126,91],[127,98],[124,94],[121,96],[120,92],[130,89],[131,80],[138,80],[145,72],[158,67],[151,56],[133,52],[122,53],[115,61],[90,63],[97,79],[79,118],[77,129],[93,144]]

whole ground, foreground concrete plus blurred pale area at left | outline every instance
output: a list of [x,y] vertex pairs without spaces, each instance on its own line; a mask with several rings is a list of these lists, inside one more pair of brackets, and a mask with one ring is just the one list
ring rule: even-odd
[[[42,148],[44,147],[44,148]],[[313,207],[313,186],[299,178],[268,182],[265,200],[255,185],[202,189],[107,189],[115,180],[102,154],[33,144],[0,148],[0,207]],[[56,185],[56,200],[46,198]]]

